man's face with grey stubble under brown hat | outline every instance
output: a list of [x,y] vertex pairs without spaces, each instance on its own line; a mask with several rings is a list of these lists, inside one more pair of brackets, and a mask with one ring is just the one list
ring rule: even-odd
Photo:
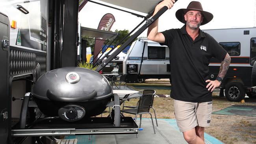
[[184,18],[187,21],[187,26],[194,30],[199,28],[203,21],[203,16],[200,11],[188,11],[184,15]]

